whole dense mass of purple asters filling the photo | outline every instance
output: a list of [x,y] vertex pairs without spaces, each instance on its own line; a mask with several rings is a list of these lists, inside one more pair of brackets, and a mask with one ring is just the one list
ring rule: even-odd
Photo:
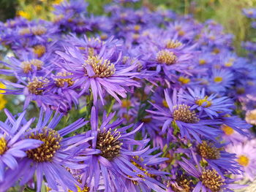
[[23,112],[0,121],[0,191],[219,192],[255,180],[256,67],[233,35],[116,2],[108,16],[74,0],[52,21],[0,23],[11,55],[0,93],[23,96]]

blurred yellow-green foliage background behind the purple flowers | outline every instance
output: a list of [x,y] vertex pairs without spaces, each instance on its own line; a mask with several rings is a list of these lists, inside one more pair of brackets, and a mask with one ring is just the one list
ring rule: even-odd
[[[63,0],[0,0],[0,20],[21,16],[48,19],[53,11],[54,4]],[[88,11],[94,14],[104,14],[105,4],[112,0],[85,0],[89,2]],[[250,27],[249,19],[242,14],[242,9],[256,7],[256,0],[142,0],[135,7],[148,7],[148,9],[173,9],[179,14],[192,14],[199,21],[216,20],[224,26],[227,33],[235,35],[234,46],[238,54],[243,55],[241,42],[250,40],[256,42],[255,29]]]

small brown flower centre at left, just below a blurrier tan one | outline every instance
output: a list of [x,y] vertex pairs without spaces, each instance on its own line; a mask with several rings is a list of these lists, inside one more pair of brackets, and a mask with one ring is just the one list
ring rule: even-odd
[[29,89],[29,93],[35,95],[41,95],[46,83],[49,82],[48,79],[43,79],[42,77],[34,77],[33,80],[29,81],[29,84],[26,86]]

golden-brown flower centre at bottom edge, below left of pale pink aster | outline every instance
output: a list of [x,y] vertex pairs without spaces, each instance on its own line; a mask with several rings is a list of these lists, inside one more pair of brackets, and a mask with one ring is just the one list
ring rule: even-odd
[[212,192],[221,191],[224,180],[214,169],[206,169],[203,171],[200,180],[206,188],[209,188]]

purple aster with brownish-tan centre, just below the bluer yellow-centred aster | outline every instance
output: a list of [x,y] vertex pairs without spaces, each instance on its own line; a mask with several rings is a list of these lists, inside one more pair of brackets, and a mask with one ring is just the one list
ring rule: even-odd
[[[179,94],[182,94],[181,91]],[[190,109],[191,106],[187,102],[178,98],[176,89],[173,90],[173,99],[170,99],[168,91],[165,90],[165,100],[169,108],[168,111],[152,103],[157,111],[147,110],[154,115],[153,118],[164,121],[162,133],[165,133],[169,127],[174,129],[178,126],[182,138],[192,139],[194,137],[198,142],[201,141],[200,137],[214,140],[221,134],[221,130],[211,127],[216,126],[219,122],[204,119],[203,116],[197,115],[195,110]]]

